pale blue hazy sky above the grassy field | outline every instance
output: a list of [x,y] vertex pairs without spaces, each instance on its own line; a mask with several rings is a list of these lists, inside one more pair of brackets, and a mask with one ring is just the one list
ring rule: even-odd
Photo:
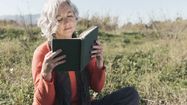
[[[1,15],[39,14],[46,0],[0,0]],[[119,22],[187,19],[187,0],[71,0],[81,17],[116,16]]]

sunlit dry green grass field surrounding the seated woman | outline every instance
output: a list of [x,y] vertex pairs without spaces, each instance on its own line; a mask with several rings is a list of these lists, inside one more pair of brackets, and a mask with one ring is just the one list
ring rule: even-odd
[[[80,22],[79,30],[100,20],[92,21]],[[95,98],[133,86],[141,105],[187,105],[187,21],[122,27],[110,21],[99,24],[107,80]],[[35,48],[45,41],[40,34],[36,26],[0,22],[0,105],[32,103],[31,61]]]

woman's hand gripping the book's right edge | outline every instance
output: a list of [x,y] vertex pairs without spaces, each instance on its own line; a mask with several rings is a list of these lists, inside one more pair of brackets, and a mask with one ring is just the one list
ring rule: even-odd
[[92,46],[91,57],[96,57],[97,67],[101,69],[103,67],[103,48],[98,40]]

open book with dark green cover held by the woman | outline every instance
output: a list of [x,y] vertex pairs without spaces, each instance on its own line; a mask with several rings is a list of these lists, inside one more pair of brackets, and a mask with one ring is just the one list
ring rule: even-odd
[[62,49],[66,62],[55,67],[59,71],[81,71],[91,59],[92,45],[97,40],[98,27],[93,26],[82,32],[78,38],[53,39],[52,51]]

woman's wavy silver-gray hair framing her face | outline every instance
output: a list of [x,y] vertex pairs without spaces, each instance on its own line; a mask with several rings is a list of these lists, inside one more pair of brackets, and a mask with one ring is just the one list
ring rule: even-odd
[[41,28],[42,36],[45,36],[48,40],[53,38],[53,34],[57,30],[58,21],[56,19],[58,15],[58,9],[61,4],[65,3],[70,6],[76,19],[78,19],[78,9],[70,0],[48,0],[41,12],[38,19],[38,27]]

